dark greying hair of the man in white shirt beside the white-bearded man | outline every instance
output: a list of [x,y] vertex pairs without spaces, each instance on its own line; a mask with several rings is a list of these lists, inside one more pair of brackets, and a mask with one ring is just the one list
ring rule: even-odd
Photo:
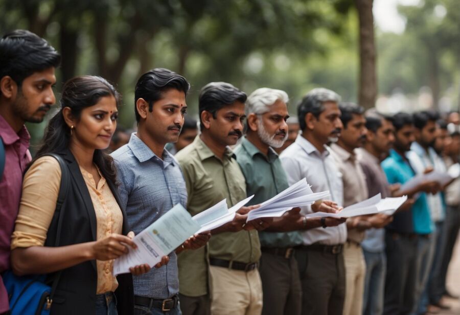
[[312,113],[315,117],[318,117],[324,111],[324,103],[334,102],[338,104],[340,99],[339,94],[323,87],[312,89],[305,94],[297,106],[298,123],[301,130],[305,130],[307,127],[305,125],[305,116],[308,113]]

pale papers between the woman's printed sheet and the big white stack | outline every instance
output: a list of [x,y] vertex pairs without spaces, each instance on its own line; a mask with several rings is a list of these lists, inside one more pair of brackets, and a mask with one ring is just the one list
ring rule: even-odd
[[211,231],[231,222],[238,209],[247,204],[253,197],[254,195],[240,201],[230,209],[227,208],[227,200],[224,199],[211,208],[194,215],[192,219],[201,226],[197,233]]

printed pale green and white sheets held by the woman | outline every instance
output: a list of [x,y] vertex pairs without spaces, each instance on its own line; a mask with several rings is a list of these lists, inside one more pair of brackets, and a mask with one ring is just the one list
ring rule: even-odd
[[133,238],[137,249],[129,248],[128,254],[114,261],[113,274],[128,273],[130,267],[144,263],[154,266],[199,229],[189,212],[175,205]]

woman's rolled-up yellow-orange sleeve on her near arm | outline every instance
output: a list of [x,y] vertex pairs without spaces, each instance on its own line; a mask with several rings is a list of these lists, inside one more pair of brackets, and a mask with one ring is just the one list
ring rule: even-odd
[[37,159],[22,183],[22,196],[11,249],[43,246],[53,219],[61,183],[61,168],[51,156]]

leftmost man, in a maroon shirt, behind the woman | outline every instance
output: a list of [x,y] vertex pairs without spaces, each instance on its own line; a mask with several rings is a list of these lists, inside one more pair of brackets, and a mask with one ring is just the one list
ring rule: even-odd
[[[22,175],[31,160],[24,123],[41,123],[56,99],[53,85],[60,56],[37,35],[16,30],[0,39],[0,138],[5,168],[0,177],[0,273],[10,268],[10,238],[21,197]],[[8,313],[0,278],[0,314]]]

